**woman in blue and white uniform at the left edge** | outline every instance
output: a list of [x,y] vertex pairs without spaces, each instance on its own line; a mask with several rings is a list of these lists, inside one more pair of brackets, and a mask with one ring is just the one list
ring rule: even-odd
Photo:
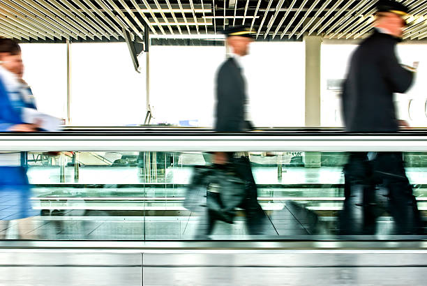
[[[22,80],[23,72],[20,46],[14,40],[0,38],[0,132],[39,129],[36,124],[24,123],[22,118],[24,108],[36,109],[31,89]],[[25,236],[24,229],[29,232],[31,222],[24,218],[40,213],[31,208],[31,188],[22,157],[20,152],[0,152],[0,239],[4,238],[10,220],[18,220],[22,239],[30,238]]]

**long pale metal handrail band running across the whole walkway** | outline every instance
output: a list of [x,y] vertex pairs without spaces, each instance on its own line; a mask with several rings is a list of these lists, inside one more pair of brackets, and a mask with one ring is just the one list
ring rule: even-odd
[[427,151],[427,133],[1,133],[0,151]]

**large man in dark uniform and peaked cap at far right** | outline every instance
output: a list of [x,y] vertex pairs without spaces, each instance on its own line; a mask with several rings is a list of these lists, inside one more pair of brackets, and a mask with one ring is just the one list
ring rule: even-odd
[[[407,7],[395,1],[377,3],[373,33],[352,54],[343,86],[345,130],[354,133],[397,132],[394,93],[404,93],[415,68],[398,63],[394,52],[401,40]],[[399,152],[350,153],[344,168],[345,203],[341,234],[375,233],[375,186],[388,189],[389,212],[396,234],[417,234],[421,218]],[[359,220],[358,217],[359,216]]]

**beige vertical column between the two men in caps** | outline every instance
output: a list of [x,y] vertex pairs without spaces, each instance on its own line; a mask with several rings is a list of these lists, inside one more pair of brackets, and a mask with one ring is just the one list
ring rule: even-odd
[[[320,127],[320,46],[322,37],[304,37],[306,45],[306,127]],[[305,152],[305,167],[320,167],[320,152]]]

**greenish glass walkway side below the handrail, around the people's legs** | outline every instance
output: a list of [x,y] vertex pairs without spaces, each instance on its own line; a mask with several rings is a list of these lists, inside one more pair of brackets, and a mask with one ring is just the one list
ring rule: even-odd
[[[340,238],[345,153],[257,152],[249,158],[258,201],[268,218],[255,236],[240,209],[234,223],[217,222],[209,237],[197,237],[204,211],[188,211],[183,200],[193,166],[210,165],[210,153],[119,151],[29,153],[31,202],[40,215],[10,223],[3,217],[0,235],[42,240]],[[404,158],[424,213],[427,153],[405,153]],[[394,227],[384,202],[380,210],[376,239],[393,234]]]

